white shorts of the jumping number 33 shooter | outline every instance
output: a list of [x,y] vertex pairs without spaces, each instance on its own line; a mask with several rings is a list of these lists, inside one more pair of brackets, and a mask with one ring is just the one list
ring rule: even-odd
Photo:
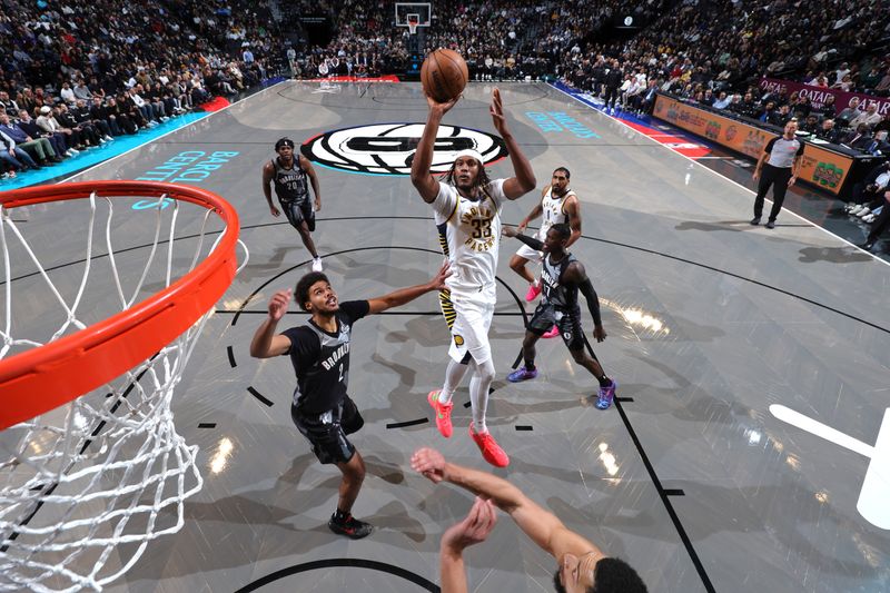
[[[443,299],[444,294],[439,294]],[[476,364],[483,364],[492,358],[492,346],[488,344],[488,328],[494,317],[494,303],[481,302],[479,298],[451,296],[442,300],[442,310],[449,324],[452,339],[448,346],[448,356],[455,363],[462,362],[466,354],[473,357]]]

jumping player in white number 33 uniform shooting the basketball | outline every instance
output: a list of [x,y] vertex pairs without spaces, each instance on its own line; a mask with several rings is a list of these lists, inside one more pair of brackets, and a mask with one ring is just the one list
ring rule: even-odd
[[454,271],[439,293],[442,312],[451,329],[451,360],[442,389],[429,393],[427,399],[436,413],[436,427],[451,437],[452,396],[473,369],[469,399],[473,422],[469,435],[486,462],[505,467],[510,457],[497,445],[485,424],[488,388],[495,376],[488,327],[495,305],[495,268],[501,241],[501,208],[505,200],[515,200],[535,188],[532,166],[513,138],[504,117],[501,91],[492,92],[491,115],[494,127],[506,144],[515,176],[490,180],[482,156],[475,150],[462,150],[451,170],[437,180],[429,174],[433,146],[442,118],[457,102],[455,97],[438,102],[427,96],[429,113],[411,168],[411,180],[423,200],[433,207],[439,243]]

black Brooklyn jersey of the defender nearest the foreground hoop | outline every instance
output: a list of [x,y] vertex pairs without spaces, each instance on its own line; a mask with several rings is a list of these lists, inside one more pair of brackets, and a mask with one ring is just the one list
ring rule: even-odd
[[294,405],[303,414],[324,414],[346,395],[349,382],[349,340],[353,324],[368,314],[367,300],[340,304],[337,330],[328,334],[309,319],[283,334],[290,338],[290,362],[297,374]]

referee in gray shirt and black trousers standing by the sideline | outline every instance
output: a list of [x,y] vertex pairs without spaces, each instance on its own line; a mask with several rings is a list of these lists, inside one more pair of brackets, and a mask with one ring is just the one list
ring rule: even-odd
[[770,140],[760,155],[753,176],[754,181],[760,179],[760,182],[758,184],[758,197],[754,199],[752,225],[760,224],[760,217],[763,216],[763,198],[767,197],[767,191],[772,186],[772,210],[767,220],[767,228],[775,228],[775,217],[782,209],[785,191],[794,185],[800,172],[803,142],[794,136],[797,131],[798,120],[792,119],[785,123],[784,134]]

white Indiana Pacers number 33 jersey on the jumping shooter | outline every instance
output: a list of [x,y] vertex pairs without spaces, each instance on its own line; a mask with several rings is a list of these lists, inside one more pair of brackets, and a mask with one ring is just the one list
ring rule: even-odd
[[504,179],[488,184],[478,200],[461,196],[454,186],[439,182],[438,187],[433,209],[442,250],[453,273],[445,285],[455,295],[472,294],[494,303],[501,208],[506,200]]

